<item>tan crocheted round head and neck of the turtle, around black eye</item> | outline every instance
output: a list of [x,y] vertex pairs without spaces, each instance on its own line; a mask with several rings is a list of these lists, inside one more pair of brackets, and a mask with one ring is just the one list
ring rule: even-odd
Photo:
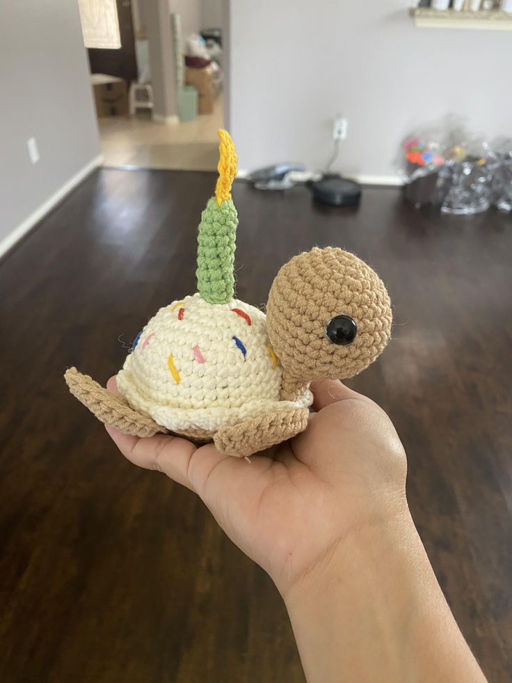
[[[326,336],[337,315],[349,315],[358,326],[349,345]],[[294,381],[298,391],[313,379],[357,375],[383,351],[391,321],[385,286],[360,258],[335,247],[295,256],[273,281],[266,307],[269,339],[285,371],[283,388],[290,394]]]

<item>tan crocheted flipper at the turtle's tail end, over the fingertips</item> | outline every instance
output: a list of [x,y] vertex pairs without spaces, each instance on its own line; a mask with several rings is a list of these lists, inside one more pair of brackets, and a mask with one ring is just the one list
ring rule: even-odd
[[66,370],[64,379],[71,393],[93,413],[98,420],[134,437],[152,437],[168,430],[152,418],[131,409],[120,394],[110,393],[77,368]]

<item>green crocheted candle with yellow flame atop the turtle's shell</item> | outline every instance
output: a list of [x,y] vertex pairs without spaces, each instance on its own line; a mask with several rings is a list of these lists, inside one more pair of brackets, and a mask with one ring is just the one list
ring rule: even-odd
[[230,134],[219,130],[218,180],[215,196],[202,212],[198,234],[198,292],[209,304],[229,304],[234,297],[234,239],[237,210],[231,186],[237,175],[237,154]]

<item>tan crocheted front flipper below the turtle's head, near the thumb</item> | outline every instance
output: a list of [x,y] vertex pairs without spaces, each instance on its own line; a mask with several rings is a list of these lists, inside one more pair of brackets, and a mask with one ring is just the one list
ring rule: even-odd
[[223,427],[214,437],[221,453],[246,457],[265,450],[303,432],[307,427],[307,408],[261,415],[233,427]]

